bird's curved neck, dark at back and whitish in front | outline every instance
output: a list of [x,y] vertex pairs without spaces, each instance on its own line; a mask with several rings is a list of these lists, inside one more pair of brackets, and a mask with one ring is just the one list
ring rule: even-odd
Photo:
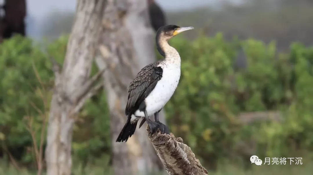
[[180,56],[177,50],[170,46],[165,39],[157,40],[156,42],[157,50],[165,59],[177,59],[180,62]]

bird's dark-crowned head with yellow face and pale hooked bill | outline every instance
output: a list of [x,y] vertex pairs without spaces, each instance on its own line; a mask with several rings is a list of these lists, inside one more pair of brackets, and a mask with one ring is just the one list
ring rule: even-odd
[[179,27],[176,25],[165,25],[158,29],[156,36],[165,40],[169,40],[183,31],[192,30],[193,27]]

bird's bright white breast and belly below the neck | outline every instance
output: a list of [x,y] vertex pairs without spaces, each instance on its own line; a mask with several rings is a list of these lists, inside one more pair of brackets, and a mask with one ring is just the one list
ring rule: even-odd
[[[160,64],[160,67],[163,68],[162,78],[145,99],[148,116],[152,116],[165,106],[174,94],[180,78],[180,64]],[[139,110],[135,112],[135,115],[137,117],[145,116],[144,113]]]

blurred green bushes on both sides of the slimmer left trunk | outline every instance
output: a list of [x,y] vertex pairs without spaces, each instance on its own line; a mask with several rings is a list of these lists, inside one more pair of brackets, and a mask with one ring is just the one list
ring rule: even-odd
[[[0,153],[8,150],[22,163],[34,162],[34,152],[29,149],[33,145],[29,129],[35,133],[39,146],[54,86],[49,57],[63,62],[67,38],[39,45],[16,36],[0,45],[0,142],[3,145]],[[94,66],[92,73],[95,72]],[[108,164],[110,132],[106,106],[104,93],[85,103],[74,126],[74,161],[94,163],[101,158]],[[32,127],[29,127],[29,119],[33,121]]]

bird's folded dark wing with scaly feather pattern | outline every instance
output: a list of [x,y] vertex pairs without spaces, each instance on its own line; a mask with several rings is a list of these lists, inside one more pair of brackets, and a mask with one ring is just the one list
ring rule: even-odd
[[134,113],[141,102],[150,94],[156,83],[162,78],[163,69],[156,64],[149,64],[137,74],[134,81],[129,85],[128,101],[125,114]]

